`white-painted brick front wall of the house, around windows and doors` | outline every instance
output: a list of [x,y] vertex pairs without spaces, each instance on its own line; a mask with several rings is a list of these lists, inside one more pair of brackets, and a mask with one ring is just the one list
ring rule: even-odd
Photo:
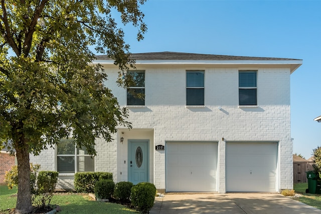
[[[167,141],[218,142],[218,191],[225,192],[225,143],[228,141],[273,141],[278,143],[279,189],[293,188],[292,140],[290,136],[290,69],[247,67],[136,65],[145,70],[145,107],[129,109],[133,129],[119,127],[112,142],[96,140],[96,171],[113,173],[116,182],[127,180],[128,139],[149,139],[149,181],[158,189],[166,185],[165,151],[154,145]],[[117,70],[111,66],[106,85],[120,105],[126,105],[125,89],[117,87]],[[205,70],[205,106],[186,107],[186,70]],[[238,106],[238,71],[257,70],[258,106]],[[220,108],[219,108],[220,107]],[[121,132],[124,132],[122,134]],[[124,137],[123,144],[120,137]],[[222,137],[225,138],[222,141]],[[44,151],[38,159],[52,168],[54,151]],[[49,157],[48,157],[49,155]],[[48,159],[49,158],[49,159]],[[32,158],[33,159],[33,158]],[[44,162],[42,163],[44,166]],[[280,176],[282,175],[282,176]]]

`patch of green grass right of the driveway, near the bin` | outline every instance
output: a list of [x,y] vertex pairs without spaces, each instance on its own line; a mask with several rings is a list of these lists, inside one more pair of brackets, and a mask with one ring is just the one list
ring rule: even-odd
[[301,194],[302,196],[294,197],[293,199],[298,200],[307,205],[313,206],[315,208],[321,209],[321,195],[305,193],[305,189],[307,189],[307,183],[295,183],[295,192]]

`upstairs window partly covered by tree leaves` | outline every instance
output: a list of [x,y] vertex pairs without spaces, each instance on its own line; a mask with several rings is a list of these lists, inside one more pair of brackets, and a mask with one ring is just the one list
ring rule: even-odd
[[127,88],[127,105],[143,106],[145,105],[145,72],[128,71],[132,77],[132,82]]

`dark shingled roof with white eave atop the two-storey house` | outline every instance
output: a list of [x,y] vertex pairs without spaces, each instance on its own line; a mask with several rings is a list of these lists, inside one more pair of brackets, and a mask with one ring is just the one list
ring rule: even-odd
[[[97,55],[95,63],[112,63],[113,60],[107,55]],[[242,57],[212,54],[192,54],[180,52],[151,52],[131,54],[131,59],[136,64],[217,64],[217,65],[290,65],[291,73],[295,71],[302,60],[289,58],[272,58],[272,57]]]

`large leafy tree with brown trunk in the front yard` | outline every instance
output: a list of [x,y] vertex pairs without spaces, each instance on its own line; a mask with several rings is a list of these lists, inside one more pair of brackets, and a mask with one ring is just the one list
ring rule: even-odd
[[94,155],[95,138],[110,141],[118,125],[130,126],[104,85],[106,74],[91,65],[89,47],[114,59],[117,82],[126,86],[123,74],[133,61],[114,16],[136,27],[140,40],[145,1],[1,0],[0,146],[12,142],[17,155],[16,213],[32,210],[29,153],[72,135]]

